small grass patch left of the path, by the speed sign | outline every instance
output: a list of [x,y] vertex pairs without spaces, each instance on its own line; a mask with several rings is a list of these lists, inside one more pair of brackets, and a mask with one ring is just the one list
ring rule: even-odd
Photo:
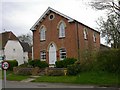
[[[4,73],[2,73],[2,78],[4,78]],[[21,80],[24,80],[24,79],[27,79],[27,78],[29,78],[29,76],[15,75],[11,71],[6,72],[6,79],[10,80],[10,81],[21,81]]]

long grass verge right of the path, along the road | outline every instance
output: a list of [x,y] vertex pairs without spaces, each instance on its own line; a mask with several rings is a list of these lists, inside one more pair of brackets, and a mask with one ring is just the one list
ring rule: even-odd
[[[119,75],[120,77],[120,75]],[[120,79],[112,73],[83,72],[78,76],[41,76],[33,82],[74,83],[99,86],[120,86]]]

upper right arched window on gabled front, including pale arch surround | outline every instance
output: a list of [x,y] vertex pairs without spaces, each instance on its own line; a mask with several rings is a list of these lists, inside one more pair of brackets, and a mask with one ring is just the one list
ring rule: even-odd
[[65,37],[65,27],[66,24],[64,21],[60,21],[58,24],[58,29],[59,29],[59,38]]

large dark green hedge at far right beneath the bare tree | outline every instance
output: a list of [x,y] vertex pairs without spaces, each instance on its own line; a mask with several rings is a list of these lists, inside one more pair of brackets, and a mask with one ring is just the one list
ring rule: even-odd
[[120,73],[120,50],[100,51],[94,70]]

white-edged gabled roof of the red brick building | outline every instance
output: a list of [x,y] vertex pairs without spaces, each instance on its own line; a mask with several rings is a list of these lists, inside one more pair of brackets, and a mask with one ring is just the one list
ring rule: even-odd
[[[42,14],[42,16],[35,22],[35,24],[30,28],[30,30],[31,30],[31,31],[35,31],[35,30],[36,30],[36,26],[38,26],[39,23],[43,21],[43,19],[50,13],[50,11],[52,11],[52,12],[54,12],[54,13],[56,13],[56,14],[59,14],[60,16],[63,16],[64,18],[68,19],[68,22],[77,22],[77,23],[80,23],[80,24],[84,25],[85,27],[88,27],[88,28],[94,30],[93,28],[91,28],[91,27],[89,27],[89,26],[87,26],[87,25],[85,25],[85,24],[83,24],[83,23],[81,23],[81,22],[79,22],[79,21],[77,21],[77,20],[75,20],[75,19],[73,19],[73,18],[71,18],[71,17],[63,14],[63,13],[60,13],[59,11],[57,11],[57,10],[51,8],[51,7],[48,7],[48,9],[47,9],[47,10]],[[94,30],[94,31],[96,31],[96,30]],[[96,32],[98,32],[98,31],[96,31]],[[98,32],[98,33],[100,33],[100,32]]]

